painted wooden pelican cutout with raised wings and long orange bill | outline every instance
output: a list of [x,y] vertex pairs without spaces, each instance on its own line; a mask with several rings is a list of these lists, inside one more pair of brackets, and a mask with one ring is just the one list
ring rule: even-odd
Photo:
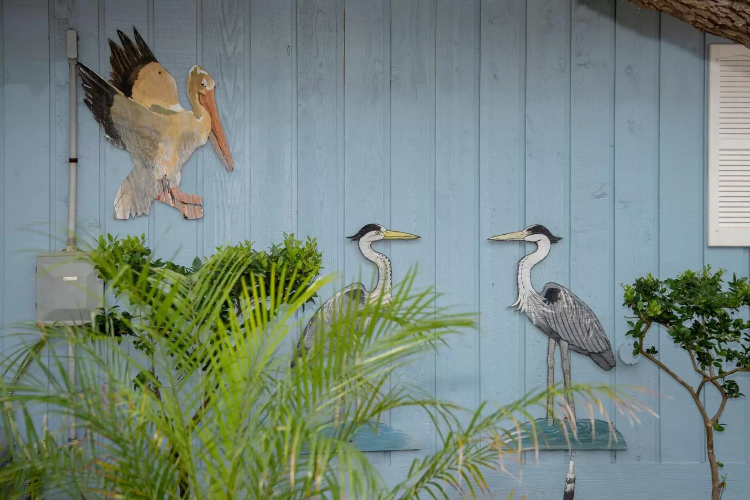
[[175,79],[154,57],[136,28],[135,43],[117,31],[122,46],[110,40],[110,79],[79,63],[84,102],[107,140],[130,153],[133,169],[115,197],[115,218],[148,215],[151,202],[178,208],[186,219],[203,215],[197,194],[180,190],[182,167],[211,139],[223,166],[234,169],[216,106],[216,82],[199,66],[187,74],[187,99],[180,106]]

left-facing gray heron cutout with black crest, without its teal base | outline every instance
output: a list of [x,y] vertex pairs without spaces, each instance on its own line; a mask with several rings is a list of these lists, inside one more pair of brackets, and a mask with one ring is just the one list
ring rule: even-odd
[[[557,283],[547,283],[541,293],[532,286],[532,268],[544,260],[550,253],[552,244],[561,239],[538,224],[523,231],[508,232],[490,238],[491,241],[529,241],[536,244],[536,250],[518,262],[518,299],[511,307],[517,307],[517,310],[526,313],[529,321],[549,338],[547,385],[554,384],[555,347],[559,346],[562,379],[565,388],[569,389],[570,350],[588,356],[602,370],[612,370],[615,361],[604,328],[601,328],[601,323],[585,302]],[[573,394],[568,392],[566,397],[575,417]],[[552,425],[552,418],[553,400],[550,396],[547,397],[547,424]]]

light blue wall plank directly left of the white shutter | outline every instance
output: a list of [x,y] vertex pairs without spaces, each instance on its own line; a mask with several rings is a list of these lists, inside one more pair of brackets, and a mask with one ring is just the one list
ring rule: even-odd
[[[659,275],[700,270],[705,247],[703,173],[703,34],[673,17],[661,16],[659,96]],[[674,92],[679,85],[679,92]],[[697,385],[688,355],[660,331],[659,358]],[[664,372],[661,394],[661,461],[700,462],[703,423],[692,398]],[[689,410],[688,410],[689,409]]]

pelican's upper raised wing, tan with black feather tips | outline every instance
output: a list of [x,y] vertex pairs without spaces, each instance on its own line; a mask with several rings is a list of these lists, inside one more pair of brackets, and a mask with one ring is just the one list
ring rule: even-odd
[[179,106],[175,79],[159,64],[135,27],[133,34],[135,43],[120,30],[117,35],[122,46],[110,40],[110,83],[147,108],[175,109]]

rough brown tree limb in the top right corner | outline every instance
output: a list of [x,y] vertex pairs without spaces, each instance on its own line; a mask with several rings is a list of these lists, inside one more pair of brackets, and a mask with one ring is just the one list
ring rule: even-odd
[[750,47],[750,0],[631,0],[690,25]]

